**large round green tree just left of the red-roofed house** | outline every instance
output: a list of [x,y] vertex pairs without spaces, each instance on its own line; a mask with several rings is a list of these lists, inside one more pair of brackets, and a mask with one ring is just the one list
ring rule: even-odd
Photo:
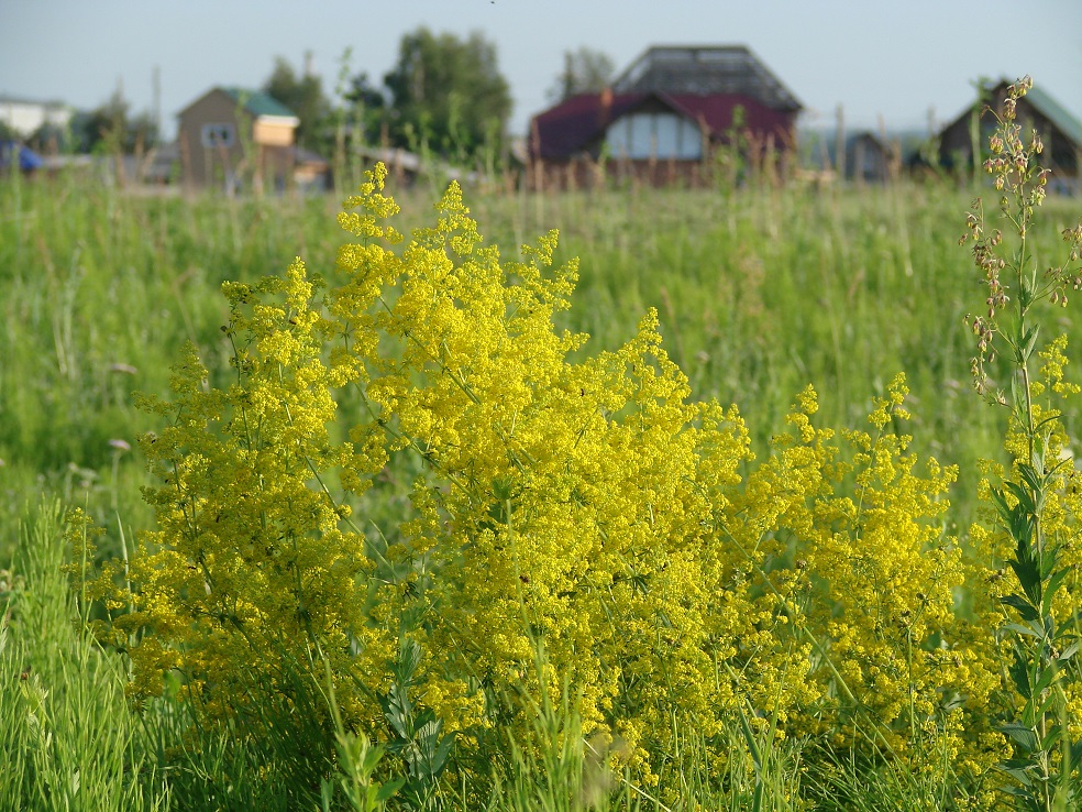
[[481,32],[462,41],[426,28],[402,36],[395,69],[384,77],[393,100],[393,142],[427,142],[444,155],[468,157],[498,145],[511,113],[511,94],[497,65],[496,45]]

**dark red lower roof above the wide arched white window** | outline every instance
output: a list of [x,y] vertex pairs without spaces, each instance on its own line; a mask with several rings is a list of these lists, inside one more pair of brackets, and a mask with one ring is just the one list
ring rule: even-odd
[[[567,158],[588,150],[605,135],[617,119],[651,100],[660,102],[678,116],[706,125],[713,139],[724,139],[732,129],[736,109],[743,110],[743,131],[759,138],[773,134],[783,147],[793,135],[793,113],[772,110],[761,101],[743,94],[664,94],[634,92],[582,94],[567,99],[533,118],[530,154],[542,158]],[[540,147],[540,149],[539,149]]]

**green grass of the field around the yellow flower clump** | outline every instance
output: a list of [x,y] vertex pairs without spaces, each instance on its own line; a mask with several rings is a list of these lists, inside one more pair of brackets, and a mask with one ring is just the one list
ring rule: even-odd
[[[406,228],[427,219],[429,189],[391,191]],[[505,252],[562,229],[561,257],[582,261],[565,323],[592,336],[586,352],[619,345],[655,307],[695,395],[736,403],[760,451],[806,384],[820,392],[822,425],[855,427],[870,398],[906,372],[914,450],[962,470],[946,528],[956,535],[973,518],[976,460],[998,453],[1005,421],[970,387],[972,337],[962,319],[984,293],[957,243],[971,196],[908,184],[731,196],[466,193],[482,233]],[[222,372],[222,281],[280,272],[295,255],[332,275],[344,242],[335,210],[321,198],[137,197],[74,176],[0,184],[0,567],[9,568],[0,596],[0,608],[8,605],[0,799],[20,799],[13,808],[63,808],[65,799],[87,810],[357,808],[335,783],[341,776],[329,772],[333,732],[275,743],[243,726],[199,732],[168,699],[142,715],[131,711],[122,660],[73,623],[58,508],[47,501],[26,507],[42,493],[86,505],[106,526],[110,552],[147,528],[143,464],[115,442],[134,448],[139,432],[156,428],[134,408],[132,391],[164,395],[185,340]],[[1035,238],[1047,253],[1078,205],[1051,200],[1042,215]],[[1069,333],[1078,318],[1071,314],[1060,321]],[[1080,349],[1070,348],[1073,359]],[[1072,434],[1078,420],[1078,413],[1067,415]],[[388,479],[383,511],[393,518],[409,474]],[[490,795],[445,787],[442,802],[523,812],[583,809],[589,799],[601,809],[637,810],[691,810],[695,802],[931,809],[951,780],[843,760],[808,775],[803,743],[770,744],[770,757],[757,759],[735,729],[720,784],[707,778],[713,766],[688,731],[661,783],[638,787],[600,769],[566,706],[539,709],[538,724],[550,749],[494,755],[501,771]],[[298,742],[317,750],[303,780],[294,769]],[[385,755],[373,780],[389,781],[396,769]],[[312,776],[339,789],[331,793]],[[593,793],[603,783],[600,795]]]

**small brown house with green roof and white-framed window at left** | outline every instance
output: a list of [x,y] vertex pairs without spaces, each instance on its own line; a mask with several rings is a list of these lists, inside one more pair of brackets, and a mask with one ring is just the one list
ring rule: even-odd
[[236,190],[283,189],[292,183],[294,136],[300,120],[258,90],[216,87],[178,114],[177,143],[185,184]]

